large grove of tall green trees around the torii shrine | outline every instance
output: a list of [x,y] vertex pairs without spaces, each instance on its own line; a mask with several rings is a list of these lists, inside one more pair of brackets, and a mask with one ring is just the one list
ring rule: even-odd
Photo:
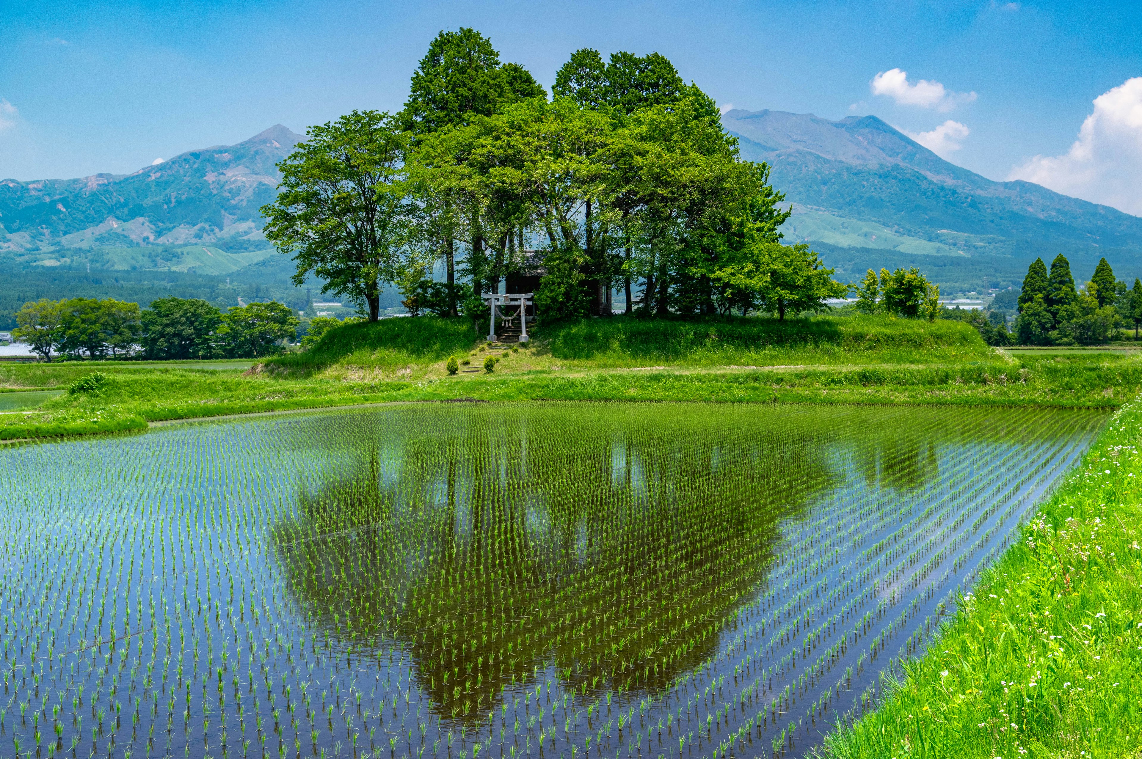
[[478,32],[441,32],[401,112],[312,127],[279,168],[265,233],[293,282],[316,275],[373,321],[388,284],[411,313],[483,316],[513,274],[542,275],[541,318],[609,314],[620,288],[645,316],[779,318],[847,291],[781,244],[770,167],[659,54],[578,50],[548,97]]

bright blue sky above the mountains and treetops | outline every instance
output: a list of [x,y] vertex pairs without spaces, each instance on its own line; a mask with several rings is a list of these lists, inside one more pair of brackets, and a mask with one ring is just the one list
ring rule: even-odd
[[[1065,168],[1027,161],[1065,159],[1092,102],[1142,76],[1137,2],[0,0],[0,177],[123,173],[278,122],[396,110],[432,37],[459,26],[547,86],[579,47],[657,50],[718,103],[875,114],[987,177],[1023,167],[1048,185]],[[1129,131],[1133,92],[1115,103],[1103,123]]]

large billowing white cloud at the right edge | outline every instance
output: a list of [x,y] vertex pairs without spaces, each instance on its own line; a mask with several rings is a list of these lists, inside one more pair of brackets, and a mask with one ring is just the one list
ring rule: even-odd
[[1028,159],[1007,178],[1142,216],[1142,76],[1094,99],[1070,151]]

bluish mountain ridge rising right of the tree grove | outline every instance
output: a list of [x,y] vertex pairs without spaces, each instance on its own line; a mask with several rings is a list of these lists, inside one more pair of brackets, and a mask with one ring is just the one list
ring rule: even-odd
[[[771,181],[795,213],[828,215],[833,226],[837,219],[875,223],[964,256],[1026,257],[1057,248],[1086,255],[1097,248],[1142,252],[1142,218],[1027,181],[994,181],[941,159],[876,116],[830,121],[733,110],[722,120],[738,137],[743,158],[772,167]],[[798,241],[813,242],[822,234],[822,220],[810,216],[798,228],[795,215],[787,226]],[[854,236],[842,247],[862,244]]]

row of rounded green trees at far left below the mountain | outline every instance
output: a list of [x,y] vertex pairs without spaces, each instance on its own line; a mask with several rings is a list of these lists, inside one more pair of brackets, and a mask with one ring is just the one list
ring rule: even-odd
[[13,338],[51,361],[139,357],[260,358],[284,352],[298,318],[280,302],[252,302],[225,313],[206,300],[159,298],[146,309],[121,300],[71,298],[24,304]]

